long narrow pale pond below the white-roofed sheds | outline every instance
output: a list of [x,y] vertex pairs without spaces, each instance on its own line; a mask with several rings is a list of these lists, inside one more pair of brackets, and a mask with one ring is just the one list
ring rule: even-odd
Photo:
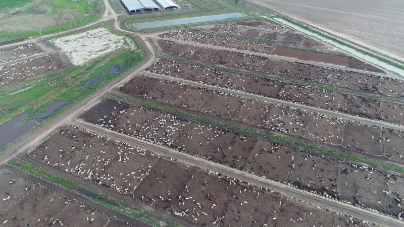
[[158,27],[181,25],[181,24],[192,24],[192,23],[200,23],[200,22],[208,22],[208,21],[217,21],[217,20],[224,20],[224,19],[238,18],[238,17],[244,17],[244,15],[241,13],[218,14],[218,15],[211,15],[211,16],[188,17],[188,18],[180,18],[180,19],[165,20],[165,21],[151,21],[151,22],[143,22],[143,23],[134,23],[132,26],[137,29],[158,28]]

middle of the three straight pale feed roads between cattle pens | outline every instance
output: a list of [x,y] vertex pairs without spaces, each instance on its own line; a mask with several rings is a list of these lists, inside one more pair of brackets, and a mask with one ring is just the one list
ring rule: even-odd
[[367,118],[361,118],[361,117],[357,117],[357,116],[353,116],[353,115],[347,115],[346,113],[342,113],[342,112],[335,112],[335,111],[332,111],[332,110],[317,108],[317,107],[313,107],[313,106],[309,106],[309,105],[302,105],[302,104],[298,104],[298,103],[283,101],[283,100],[276,99],[276,98],[269,98],[269,97],[265,97],[265,96],[261,96],[261,95],[256,95],[256,94],[243,92],[243,91],[237,91],[237,90],[232,90],[232,89],[228,89],[228,88],[224,88],[224,87],[198,83],[198,82],[194,82],[194,81],[190,81],[190,80],[185,80],[185,79],[181,79],[181,78],[165,76],[165,75],[156,74],[156,73],[142,72],[142,74],[147,75],[149,77],[157,78],[157,79],[171,80],[171,81],[179,82],[179,83],[182,83],[182,84],[187,84],[187,85],[192,85],[192,86],[212,89],[214,91],[231,93],[231,94],[239,95],[239,96],[246,97],[246,98],[257,99],[257,100],[265,101],[265,102],[269,102],[269,103],[274,103],[274,104],[279,104],[279,105],[286,105],[286,106],[290,106],[290,107],[294,107],[294,108],[298,108],[298,109],[303,109],[303,110],[307,110],[307,111],[318,112],[318,113],[322,113],[324,115],[334,116],[336,118],[342,118],[342,119],[345,119],[345,120],[359,122],[359,123],[362,123],[362,124],[376,125],[376,126],[382,127],[382,128],[388,128],[388,129],[404,131],[404,126],[396,125],[396,124],[392,124],[392,123],[388,123],[388,122],[376,121],[376,120],[367,119]]

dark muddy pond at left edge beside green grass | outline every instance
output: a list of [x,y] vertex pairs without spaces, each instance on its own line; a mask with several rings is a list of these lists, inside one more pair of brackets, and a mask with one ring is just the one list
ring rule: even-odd
[[[3,125],[0,125],[0,149],[34,128],[36,124],[38,124],[37,119],[44,119],[48,117],[56,110],[66,105],[66,103],[66,100],[54,101],[44,107],[44,112],[37,112],[33,117],[29,117],[28,114],[24,112]],[[27,120],[31,121],[24,123]]]

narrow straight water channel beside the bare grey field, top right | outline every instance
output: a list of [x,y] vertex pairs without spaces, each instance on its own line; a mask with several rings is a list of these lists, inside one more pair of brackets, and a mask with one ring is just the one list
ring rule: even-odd
[[396,67],[394,67],[392,65],[389,65],[389,64],[387,64],[385,62],[382,62],[382,61],[380,61],[380,60],[378,60],[376,58],[373,58],[372,56],[369,56],[369,55],[367,55],[365,53],[359,52],[356,49],[353,49],[353,48],[350,48],[348,46],[339,44],[339,43],[337,43],[337,42],[335,42],[335,41],[333,41],[331,39],[322,37],[322,36],[320,36],[320,35],[318,35],[318,34],[316,34],[314,32],[311,32],[311,31],[309,31],[309,30],[307,30],[305,28],[301,28],[301,27],[299,27],[297,25],[289,23],[288,21],[283,20],[282,18],[274,18],[274,20],[276,20],[276,21],[278,21],[278,22],[280,22],[280,23],[282,23],[284,25],[287,25],[287,26],[289,26],[289,27],[291,27],[291,28],[293,28],[293,29],[295,29],[297,31],[303,32],[303,33],[305,33],[307,35],[314,36],[314,37],[316,37],[316,38],[318,38],[318,39],[320,39],[320,40],[322,40],[324,42],[330,43],[330,44],[336,46],[339,49],[345,50],[346,52],[348,52],[348,53],[350,53],[350,54],[352,54],[354,56],[357,56],[360,59],[363,59],[363,60],[365,60],[367,62],[373,63],[373,64],[375,64],[377,66],[380,66],[380,67],[382,67],[382,68],[384,68],[386,70],[389,70],[391,72],[395,72],[398,75],[404,77],[404,70],[396,68]]

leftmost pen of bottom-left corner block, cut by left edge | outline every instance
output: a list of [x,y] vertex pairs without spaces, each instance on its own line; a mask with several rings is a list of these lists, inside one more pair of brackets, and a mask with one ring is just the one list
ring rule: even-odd
[[0,213],[5,213],[32,189],[32,182],[5,172],[0,175]]

